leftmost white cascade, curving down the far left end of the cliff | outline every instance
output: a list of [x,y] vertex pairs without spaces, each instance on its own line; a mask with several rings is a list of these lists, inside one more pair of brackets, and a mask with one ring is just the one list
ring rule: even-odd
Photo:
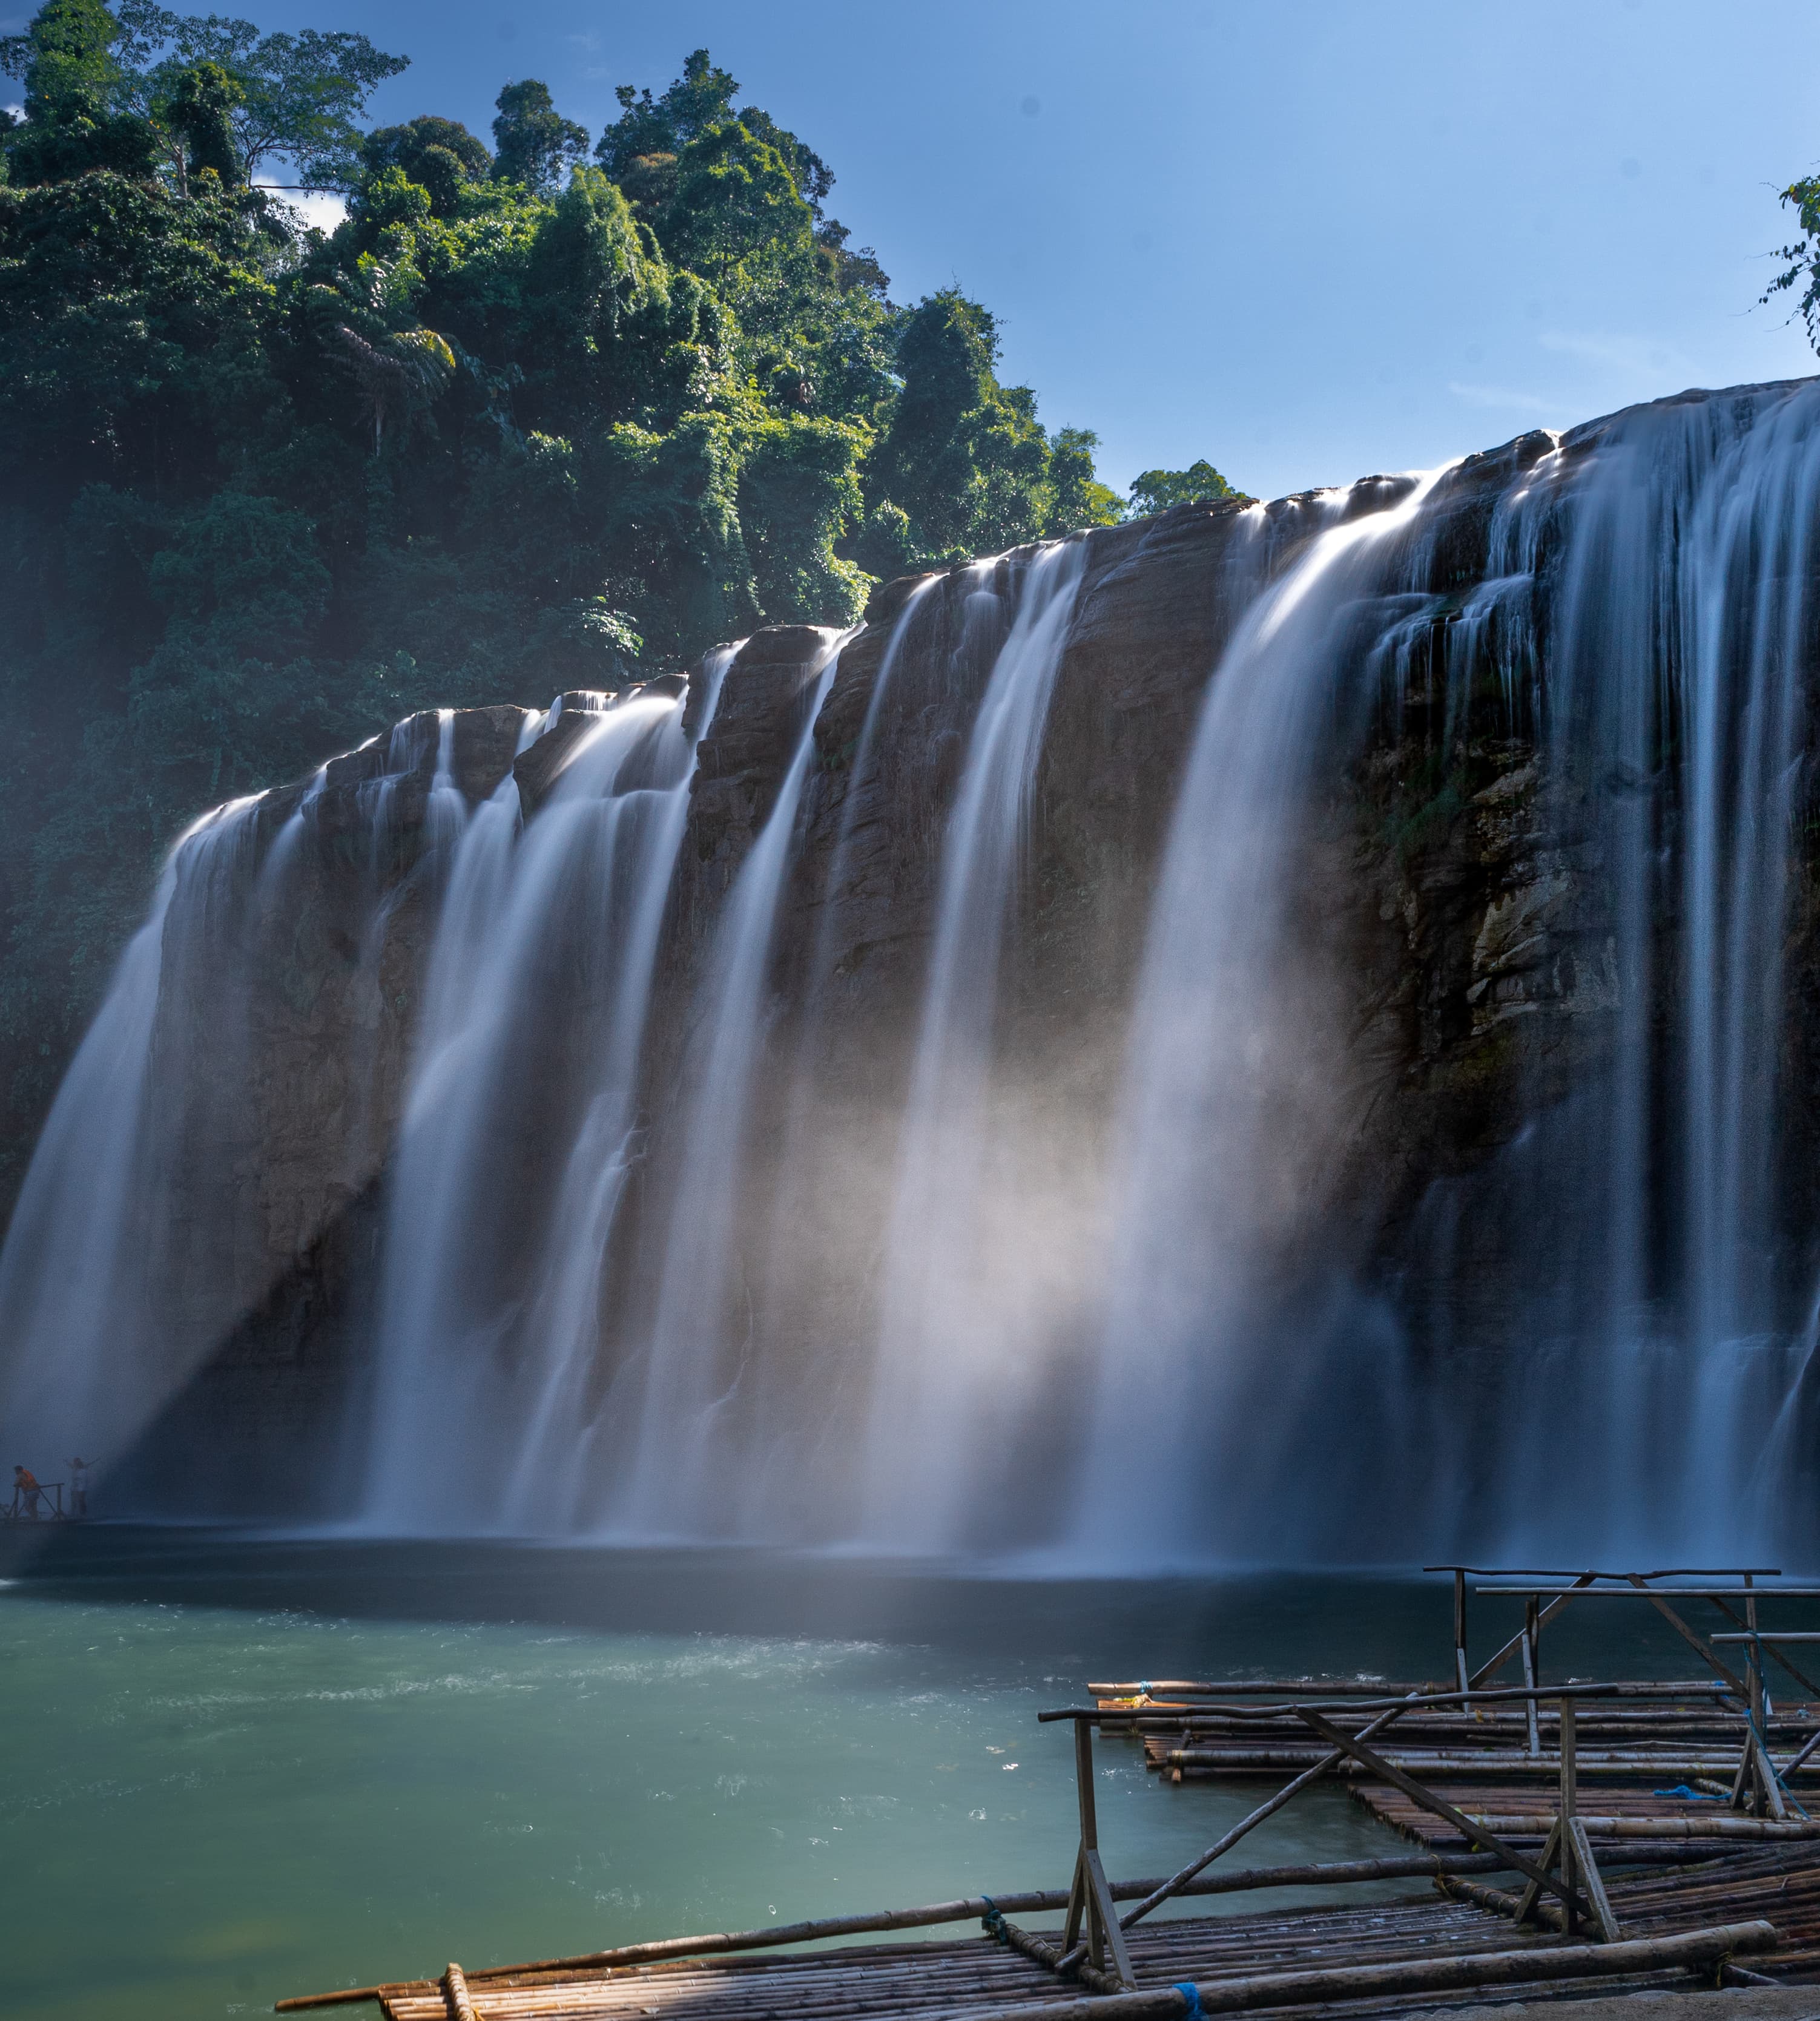
[[[463,819],[453,711],[435,724],[431,871],[437,835]],[[402,889],[390,821],[400,784],[429,758],[425,719],[406,717],[370,750],[378,768],[352,790],[364,865],[358,1017],[352,1057],[336,1061],[348,1118],[330,1154],[350,1190],[372,1156],[380,972]],[[360,754],[336,764],[358,768]],[[336,764],[275,829],[271,796],[251,794],[178,837],[65,1075],[0,1251],[0,1421],[22,1449],[117,1463],[269,1287],[259,1221],[273,1073],[261,998],[295,926],[293,881]]]

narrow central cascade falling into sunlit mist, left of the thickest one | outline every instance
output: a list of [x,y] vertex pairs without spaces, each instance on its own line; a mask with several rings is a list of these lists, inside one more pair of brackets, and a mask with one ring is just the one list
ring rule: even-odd
[[1003,1441],[1045,1376],[1054,1314],[991,1211],[1007,1184],[993,1126],[999,968],[1029,829],[1029,792],[1086,544],[1037,550],[987,681],[942,837],[934,946],[886,1231],[866,1439],[863,1534],[932,1550],[969,1532],[981,1453]]

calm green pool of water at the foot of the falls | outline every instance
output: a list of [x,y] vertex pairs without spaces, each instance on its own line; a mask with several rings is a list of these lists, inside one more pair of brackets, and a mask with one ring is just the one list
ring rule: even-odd
[[[1436,1675],[1450,1643],[1446,1580],[1416,1578],[125,1530],[0,1550],[0,2011],[42,2021],[1062,1888],[1070,1744],[1039,1708],[1132,1671]],[[1511,1603],[1482,1605],[1488,1643]],[[1596,1667],[1591,1627],[1549,1675]],[[1666,1629],[1624,1627],[1626,1667],[1678,1673]],[[1252,1801],[1100,1748],[1116,1875],[1179,1865]],[[1393,1849],[1314,1791],[1246,1863]]]

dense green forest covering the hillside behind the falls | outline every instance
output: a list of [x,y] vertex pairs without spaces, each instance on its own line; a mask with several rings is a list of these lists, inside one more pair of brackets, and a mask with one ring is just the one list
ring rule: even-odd
[[989,309],[890,299],[829,166],[708,51],[619,87],[599,139],[528,79],[491,146],[364,129],[404,69],[146,0],[49,0],[0,40],[14,1176],[198,808],[411,709],[609,687],[1225,491],[1195,463],[1118,499],[1090,430],[999,382]]

